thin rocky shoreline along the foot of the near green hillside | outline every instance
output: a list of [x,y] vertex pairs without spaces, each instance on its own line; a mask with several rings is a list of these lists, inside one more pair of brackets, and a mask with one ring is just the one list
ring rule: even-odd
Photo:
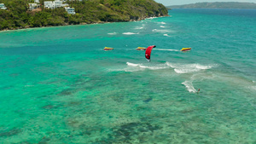
[[[152,19],[152,18],[160,18],[160,17],[169,17],[170,15],[163,15],[163,16],[154,16],[154,17],[145,17],[145,18],[140,18],[138,20],[128,20],[128,21],[114,21],[114,22],[131,22],[131,21],[141,21],[141,20],[146,20],[146,19]],[[114,23],[114,22],[107,22],[107,21],[100,21],[98,23],[80,23],[77,25],[60,25],[60,26],[82,26],[82,25],[96,25],[96,24],[108,24],[108,23]],[[41,26],[41,27],[24,27],[24,28],[17,28],[17,29],[4,29],[0,30],[0,32],[10,32],[10,31],[17,31],[17,30],[26,30],[26,29],[33,29],[33,28],[49,28],[49,27],[58,27],[58,26]]]

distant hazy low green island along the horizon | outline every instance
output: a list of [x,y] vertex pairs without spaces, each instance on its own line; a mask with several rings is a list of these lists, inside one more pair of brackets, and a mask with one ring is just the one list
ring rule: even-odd
[[256,9],[256,3],[216,2],[216,3],[193,3],[173,5],[168,8],[205,8],[205,9]]

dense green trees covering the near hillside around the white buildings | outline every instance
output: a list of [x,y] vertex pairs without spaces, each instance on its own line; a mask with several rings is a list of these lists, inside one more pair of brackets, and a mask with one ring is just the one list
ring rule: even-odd
[[142,20],[151,16],[167,15],[167,9],[154,0],[83,0],[67,1],[76,14],[67,14],[64,8],[29,11],[33,0],[0,0],[8,8],[0,9],[0,30],[41,26],[64,26],[100,22]]

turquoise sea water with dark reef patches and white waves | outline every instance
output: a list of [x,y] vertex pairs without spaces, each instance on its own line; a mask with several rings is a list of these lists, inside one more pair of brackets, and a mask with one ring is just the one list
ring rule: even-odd
[[0,143],[256,143],[256,10],[169,14],[0,32]]

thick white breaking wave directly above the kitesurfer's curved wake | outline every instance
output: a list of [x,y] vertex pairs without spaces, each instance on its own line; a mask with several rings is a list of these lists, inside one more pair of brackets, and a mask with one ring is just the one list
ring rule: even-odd
[[207,70],[213,67],[213,65],[203,66],[200,64],[172,64],[169,62],[166,62],[166,65],[174,68],[174,71],[177,73],[199,72],[201,70]]

